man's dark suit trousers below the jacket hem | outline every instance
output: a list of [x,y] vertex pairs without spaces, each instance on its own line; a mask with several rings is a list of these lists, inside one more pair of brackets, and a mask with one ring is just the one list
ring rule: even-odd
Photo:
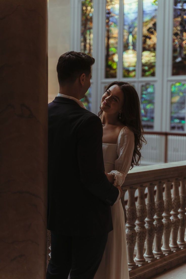
[[100,265],[108,234],[80,237],[51,231],[51,259],[47,279],[93,279]]

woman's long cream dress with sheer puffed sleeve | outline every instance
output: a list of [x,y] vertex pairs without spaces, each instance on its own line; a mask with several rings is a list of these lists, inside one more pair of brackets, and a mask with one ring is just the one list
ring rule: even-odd
[[[130,169],[134,151],[134,133],[121,129],[117,144],[103,143],[105,171],[116,175],[114,185],[122,185]],[[121,200],[111,206],[113,230],[94,279],[129,279],[125,217]]]

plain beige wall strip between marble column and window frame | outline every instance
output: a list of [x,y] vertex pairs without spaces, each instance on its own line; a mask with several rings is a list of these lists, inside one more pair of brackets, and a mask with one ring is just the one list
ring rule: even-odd
[[48,102],[59,92],[56,66],[61,54],[70,49],[70,0],[49,0]]

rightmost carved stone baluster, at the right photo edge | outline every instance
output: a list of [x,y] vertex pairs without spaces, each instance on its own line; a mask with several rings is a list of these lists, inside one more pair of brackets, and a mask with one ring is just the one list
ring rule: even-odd
[[185,235],[185,227],[186,227],[186,216],[185,216],[185,207],[186,207],[186,188],[185,188],[186,180],[181,181],[180,186],[180,209],[178,210],[180,219],[180,228],[178,231],[178,245],[180,247],[186,246],[184,235]]

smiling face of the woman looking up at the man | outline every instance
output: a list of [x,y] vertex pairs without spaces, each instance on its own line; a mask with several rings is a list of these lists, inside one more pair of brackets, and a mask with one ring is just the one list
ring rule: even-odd
[[109,114],[122,112],[124,95],[117,84],[112,85],[102,96],[101,109]]

